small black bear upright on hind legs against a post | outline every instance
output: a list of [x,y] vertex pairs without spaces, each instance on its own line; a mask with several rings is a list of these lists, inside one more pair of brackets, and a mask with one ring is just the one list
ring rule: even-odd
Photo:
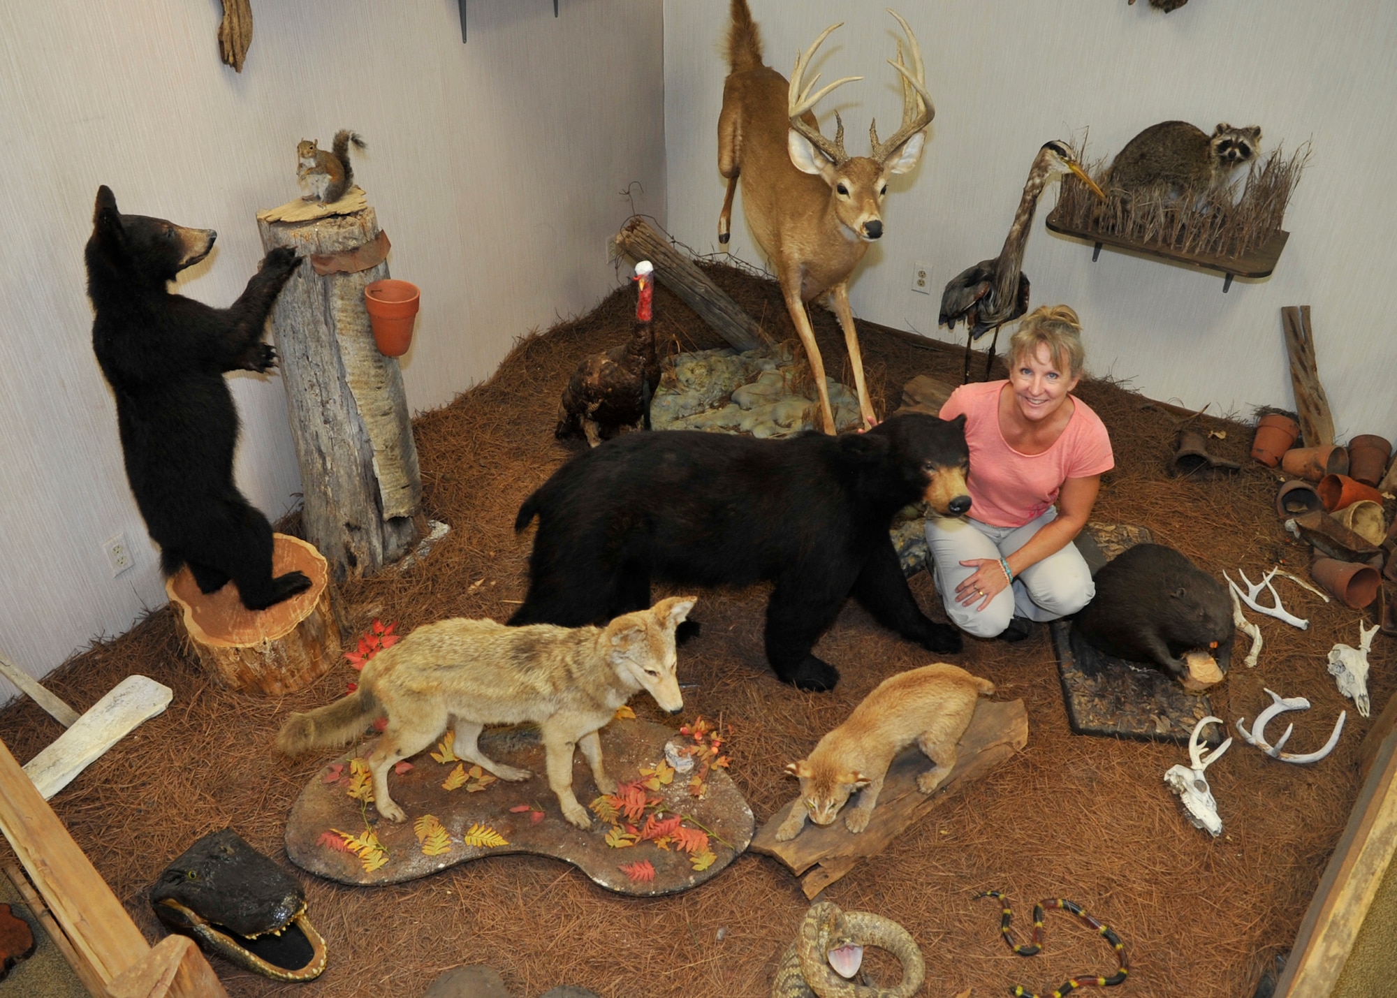
[[169,281],[208,256],[217,236],[123,215],[99,187],[87,245],[92,349],[116,396],[126,477],[165,573],[187,563],[204,593],[232,579],[244,607],[264,609],[310,579],[271,574],[271,524],[233,484],[237,410],[224,372],[277,362],[263,328],[300,260],[272,250],[226,309],[169,294]]

